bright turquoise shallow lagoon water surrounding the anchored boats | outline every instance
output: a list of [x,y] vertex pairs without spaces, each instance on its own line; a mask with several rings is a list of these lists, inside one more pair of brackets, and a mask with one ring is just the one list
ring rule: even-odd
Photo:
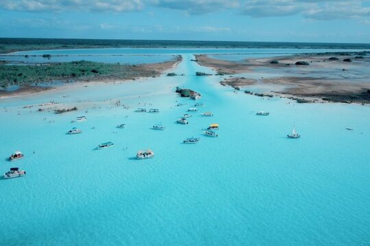
[[[27,171],[0,180],[1,244],[369,245],[370,107],[235,94],[219,77],[195,77],[210,70],[183,57],[174,72],[184,77],[0,100],[1,171]],[[175,121],[195,101],[176,86],[205,103],[188,125]],[[37,111],[50,100],[79,111]],[[262,110],[270,115],[255,115]],[[88,120],[72,124],[80,115]],[[164,131],[150,129],[160,122]],[[202,135],[210,123],[220,124],[218,138]],[[293,124],[300,139],[286,138]],[[66,135],[73,126],[83,133]],[[93,150],[106,141],[114,146]],[[132,159],[145,148],[156,156]],[[5,161],[15,150],[25,158]]]

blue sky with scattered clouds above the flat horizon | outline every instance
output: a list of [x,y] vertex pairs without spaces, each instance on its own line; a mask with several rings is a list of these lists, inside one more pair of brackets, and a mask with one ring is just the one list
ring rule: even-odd
[[0,37],[370,43],[370,0],[0,0]]

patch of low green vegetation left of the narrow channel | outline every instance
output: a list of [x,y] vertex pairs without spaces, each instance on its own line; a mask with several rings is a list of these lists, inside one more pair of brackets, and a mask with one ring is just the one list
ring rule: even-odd
[[104,64],[93,61],[22,66],[0,64],[0,86],[25,86],[32,83],[67,80],[134,79],[153,77],[158,74],[156,70],[150,70],[142,65]]

